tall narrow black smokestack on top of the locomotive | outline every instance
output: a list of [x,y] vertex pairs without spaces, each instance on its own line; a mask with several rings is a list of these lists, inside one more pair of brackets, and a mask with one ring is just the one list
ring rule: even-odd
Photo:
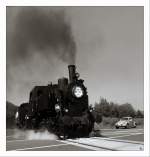
[[72,83],[76,79],[76,66],[68,65],[68,70],[69,70],[69,81],[70,83]]

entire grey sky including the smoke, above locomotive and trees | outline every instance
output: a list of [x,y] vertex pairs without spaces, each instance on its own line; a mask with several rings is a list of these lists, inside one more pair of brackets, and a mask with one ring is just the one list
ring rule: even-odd
[[144,109],[143,7],[7,7],[7,100],[57,83],[75,64],[89,102]]

